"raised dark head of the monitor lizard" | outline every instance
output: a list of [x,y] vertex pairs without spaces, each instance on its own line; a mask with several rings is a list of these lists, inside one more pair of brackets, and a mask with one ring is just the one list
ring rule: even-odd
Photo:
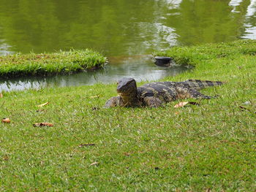
[[117,93],[121,93],[121,95],[132,95],[137,93],[137,85],[135,79],[132,78],[122,78],[117,82]]

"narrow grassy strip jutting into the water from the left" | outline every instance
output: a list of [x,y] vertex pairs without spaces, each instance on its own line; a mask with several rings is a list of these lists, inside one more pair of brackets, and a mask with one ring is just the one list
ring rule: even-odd
[[92,50],[69,50],[56,53],[30,53],[0,56],[0,76],[41,76],[69,74],[94,69],[105,64],[106,58]]

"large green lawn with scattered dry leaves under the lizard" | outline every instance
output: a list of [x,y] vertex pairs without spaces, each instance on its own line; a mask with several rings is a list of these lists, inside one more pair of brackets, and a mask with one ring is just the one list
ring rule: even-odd
[[255,191],[255,50],[249,41],[161,53],[195,66],[165,80],[227,81],[200,106],[103,109],[114,84],[4,93],[0,190]]

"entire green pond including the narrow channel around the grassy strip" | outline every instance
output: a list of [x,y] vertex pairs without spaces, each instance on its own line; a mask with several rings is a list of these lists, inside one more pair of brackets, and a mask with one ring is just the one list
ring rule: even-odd
[[97,72],[1,80],[1,90],[157,80],[186,70],[155,66],[173,45],[256,39],[256,0],[0,0],[0,54],[90,47],[109,58]]

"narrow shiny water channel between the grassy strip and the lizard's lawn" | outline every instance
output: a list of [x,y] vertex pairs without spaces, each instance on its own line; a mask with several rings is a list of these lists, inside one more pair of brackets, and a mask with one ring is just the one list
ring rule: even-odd
[[14,80],[0,80],[1,91],[23,90],[29,88],[44,88],[52,86],[92,85],[96,82],[116,82],[122,77],[133,77],[135,80],[158,80],[162,77],[176,75],[187,70],[184,66],[156,66],[150,56],[110,58],[111,65],[97,72],[86,72],[66,76],[30,77]]

